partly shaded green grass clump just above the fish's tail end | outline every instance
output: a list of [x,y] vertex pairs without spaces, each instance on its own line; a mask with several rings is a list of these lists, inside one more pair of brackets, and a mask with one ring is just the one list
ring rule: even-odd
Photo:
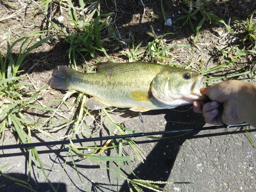
[[[76,26],[78,30],[74,35],[66,36],[66,41],[70,43],[69,57],[73,57],[73,62],[75,62],[75,58],[77,53],[84,58],[88,54],[97,60],[94,53],[96,50],[102,51],[106,56],[106,50],[103,48],[103,44],[105,39],[101,38],[102,30],[108,22],[108,17],[113,13],[99,14],[100,7],[94,9],[91,14],[86,18],[82,12],[82,19],[79,22],[76,17],[76,9],[71,3],[68,1],[70,5],[70,16],[71,22]],[[84,4],[81,4],[79,1],[81,10],[84,10]],[[97,13],[96,18],[93,18],[94,14]],[[102,19],[105,17],[104,19]]]

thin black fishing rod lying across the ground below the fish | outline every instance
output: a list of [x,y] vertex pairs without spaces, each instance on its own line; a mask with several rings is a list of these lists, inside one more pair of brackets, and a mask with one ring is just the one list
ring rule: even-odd
[[[195,129],[185,129],[185,130],[170,130],[170,131],[159,131],[159,132],[148,132],[148,133],[133,133],[127,135],[115,135],[115,136],[105,136],[105,137],[95,137],[95,138],[85,138],[85,139],[73,139],[72,143],[84,143],[90,141],[104,141],[110,139],[125,139],[132,137],[144,137],[144,136],[153,136],[153,135],[166,135],[166,134],[177,134],[185,132],[197,132],[203,130],[216,130],[222,128],[231,128],[238,126],[248,126],[248,123],[239,123],[233,125],[218,125],[218,126],[207,126],[207,127],[198,127]],[[38,142],[38,143],[23,143],[23,144],[14,144],[14,145],[2,145],[0,150],[10,150],[13,148],[28,148],[28,147],[37,147],[37,146],[49,146],[49,145],[59,145],[59,144],[70,144],[70,140],[64,141],[48,141],[48,142]]]

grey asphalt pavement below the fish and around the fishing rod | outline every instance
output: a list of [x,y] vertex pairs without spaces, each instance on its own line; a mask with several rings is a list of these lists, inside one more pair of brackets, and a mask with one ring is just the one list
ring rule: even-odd
[[[187,109],[189,106],[178,108]],[[143,129],[138,113],[126,111],[113,115],[113,118],[119,123],[127,120],[125,126],[131,129]],[[150,111],[143,113],[143,119],[144,132],[208,126],[201,114],[196,114],[193,110]],[[254,127],[248,126],[247,129],[256,143]],[[35,136],[41,141],[49,140],[40,135]],[[160,185],[170,191],[256,191],[256,149],[245,132],[241,131],[241,127],[191,132],[184,136],[160,140],[138,138],[136,141],[146,152],[146,160],[141,163],[135,158],[133,162],[129,162],[129,166],[140,179],[189,182]],[[46,173],[53,185],[56,188],[58,186],[58,191],[117,191],[116,175],[96,163],[86,158],[74,157],[79,178],[71,158],[66,162],[67,151],[56,146],[38,147],[37,150],[41,160],[49,166]],[[127,155],[133,155],[129,146],[124,146],[123,150]],[[106,151],[106,155],[112,154],[113,151]],[[102,163],[117,170],[115,162]],[[10,164],[4,168],[7,175],[27,181],[28,153],[25,150],[1,151],[0,167],[6,164]],[[53,191],[40,170],[38,178],[35,165],[31,172],[29,183],[34,190]],[[135,178],[124,163],[121,164],[121,172],[125,177]],[[0,185],[3,184],[6,186],[0,188],[0,191],[30,191],[14,181],[0,177]],[[127,182],[121,178],[118,191],[129,191],[127,186]],[[146,188],[143,190],[152,191]]]

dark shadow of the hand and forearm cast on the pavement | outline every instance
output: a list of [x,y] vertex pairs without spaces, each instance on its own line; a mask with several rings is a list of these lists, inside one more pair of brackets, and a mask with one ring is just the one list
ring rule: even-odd
[[[186,110],[189,108],[190,106],[188,105],[176,109]],[[156,115],[158,114],[165,114],[165,131],[197,128],[202,127],[205,124],[202,114],[194,113],[193,110],[188,110],[185,112],[177,112],[173,110],[158,110],[143,113],[143,116],[149,115],[151,118],[148,119],[152,119],[156,123],[154,117],[157,118]],[[172,137],[175,135],[163,135],[162,137],[172,138],[158,140],[153,150],[150,152],[150,154],[147,155],[144,163],[140,163],[138,167],[133,170],[134,173],[142,180],[167,181],[181,145],[185,140],[194,138],[194,135],[198,133],[199,132],[191,132],[180,137]],[[133,174],[130,174],[128,178],[136,179]],[[160,185],[160,187],[164,187],[164,185]],[[130,191],[127,181],[125,181],[119,191]],[[143,188],[143,191],[152,190]]]

